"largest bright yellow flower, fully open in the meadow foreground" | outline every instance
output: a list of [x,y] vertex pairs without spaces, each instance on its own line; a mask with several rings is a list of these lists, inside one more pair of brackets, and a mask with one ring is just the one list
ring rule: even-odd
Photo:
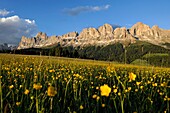
[[109,96],[111,92],[111,88],[104,84],[103,86],[100,86],[101,96]]

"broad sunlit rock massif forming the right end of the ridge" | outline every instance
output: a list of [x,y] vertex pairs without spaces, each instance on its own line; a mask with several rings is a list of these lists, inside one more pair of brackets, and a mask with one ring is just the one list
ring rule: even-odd
[[141,41],[155,45],[170,43],[170,30],[160,29],[156,25],[150,28],[148,25],[138,22],[132,26],[130,33]]

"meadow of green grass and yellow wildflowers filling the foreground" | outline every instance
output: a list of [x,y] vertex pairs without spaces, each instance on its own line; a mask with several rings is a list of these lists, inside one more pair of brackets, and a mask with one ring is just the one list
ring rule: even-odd
[[170,68],[0,54],[1,113],[168,113]]

